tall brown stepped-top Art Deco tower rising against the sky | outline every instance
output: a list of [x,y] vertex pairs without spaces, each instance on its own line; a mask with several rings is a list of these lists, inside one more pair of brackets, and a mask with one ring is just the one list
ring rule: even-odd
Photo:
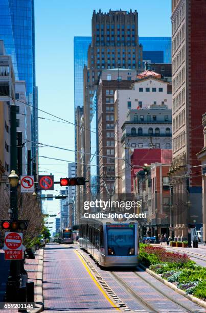
[[[90,121],[93,115],[93,96],[101,70],[117,68],[140,70],[142,46],[138,36],[138,12],[94,10],[91,20],[91,44],[88,62],[84,66],[84,152],[85,164],[90,162]],[[90,179],[90,167],[83,175]]]

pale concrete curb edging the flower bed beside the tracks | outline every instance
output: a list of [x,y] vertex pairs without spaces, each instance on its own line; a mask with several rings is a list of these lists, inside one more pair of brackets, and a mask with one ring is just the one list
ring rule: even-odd
[[161,276],[159,276],[158,274],[154,273],[153,271],[146,269],[146,272],[148,274],[150,274],[151,276],[153,276],[154,278],[158,279],[159,281],[161,281],[162,283],[164,283],[166,286],[170,287],[171,289],[173,289],[175,292],[177,292],[178,294],[186,297],[187,299],[191,300],[192,302],[206,308],[206,302],[203,300],[200,300],[192,295],[187,295],[186,292],[184,292],[184,290],[181,290],[179,288],[177,288],[173,283],[163,279]]

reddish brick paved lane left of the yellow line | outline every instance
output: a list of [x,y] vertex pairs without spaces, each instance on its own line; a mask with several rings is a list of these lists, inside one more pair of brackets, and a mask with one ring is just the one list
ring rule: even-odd
[[44,250],[44,311],[116,311],[90,278],[74,246],[49,244]]

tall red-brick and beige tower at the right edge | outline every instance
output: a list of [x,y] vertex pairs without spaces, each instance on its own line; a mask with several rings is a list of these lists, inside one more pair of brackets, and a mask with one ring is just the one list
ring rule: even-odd
[[[201,193],[201,174],[196,167],[200,162],[196,154],[203,146],[206,2],[172,0],[171,21],[173,161],[170,174],[173,193],[191,196]],[[197,199],[191,202],[190,210],[195,209],[195,215],[202,216],[197,212],[201,208],[201,200],[198,205]],[[175,240],[188,237],[188,199],[184,202],[186,209],[174,212]]]

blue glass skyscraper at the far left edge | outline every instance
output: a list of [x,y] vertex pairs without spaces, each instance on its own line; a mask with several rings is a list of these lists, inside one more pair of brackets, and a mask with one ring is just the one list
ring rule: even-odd
[[0,0],[0,39],[11,55],[15,79],[26,81],[27,101],[32,108],[33,173],[38,164],[38,106],[35,80],[34,0]]

